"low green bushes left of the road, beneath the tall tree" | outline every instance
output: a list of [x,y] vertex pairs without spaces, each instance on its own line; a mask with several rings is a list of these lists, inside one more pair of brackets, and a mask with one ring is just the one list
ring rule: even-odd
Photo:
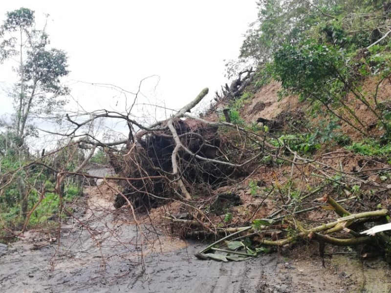
[[[0,214],[3,219],[0,226],[21,229],[27,213],[30,212],[28,227],[54,220],[59,215],[60,208],[59,196],[54,193],[55,177],[43,166],[25,167],[37,158],[31,155],[20,156],[12,150],[13,148],[8,146],[4,156],[0,156]],[[59,170],[73,171],[74,167],[83,161],[84,154],[77,146],[71,146],[63,148],[53,157],[52,161],[46,158],[45,164]],[[23,193],[21,182],[25,186]],[[46,190],[44,193],[43,189]],[[80,183],[72,177],[64,181],[63,190],[64,203],[73,201],[82,193]]]

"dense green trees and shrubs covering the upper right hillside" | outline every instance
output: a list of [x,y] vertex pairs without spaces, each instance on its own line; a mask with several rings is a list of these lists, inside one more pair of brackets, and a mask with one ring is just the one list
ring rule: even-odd
[[[231,112],[239,113],[251,91],[273,78],[282,84],[282,98],[296,94],[310,105],[308,117],[326,117],[299,135],[303,144],[352,143],[342,124],[367,138],[366,146],[388,143],[391,108],[379,92],[390,83],[391,2],[261,0],[258,8],[239,60],[227,64],[228,76],[248,64],[257,68],[253,88],[231,103]],[[368,119],[358,116],[360,105]]]

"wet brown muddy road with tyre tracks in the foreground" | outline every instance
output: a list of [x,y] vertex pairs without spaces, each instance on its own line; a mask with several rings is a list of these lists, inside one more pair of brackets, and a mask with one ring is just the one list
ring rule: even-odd
[[147,224],[141,247],[134,222],[113,212],[112,194],[96,189],[86,190],[88,209],[74,208],[81,222],[63,224],[60,244],[48,241],[53,233],[30,231],[0,247],[0,292],[391,292],[390,268],[354,254],[333,255],[326,268],[309,246],[243,262],[198,260],[205,244],[157,236]]

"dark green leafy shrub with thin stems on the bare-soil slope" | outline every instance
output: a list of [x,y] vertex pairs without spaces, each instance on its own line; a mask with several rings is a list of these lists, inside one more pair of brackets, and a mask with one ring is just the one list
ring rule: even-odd
[[[386,130],[386,136],[390,136],[391,111],[382,109],[377,99],[377,88],[366,93],[358,85],[363,76],[375,75],[379,68],[382,68],[380,81],[388,77],[390,58],[375,54],[358,61],[355,54],[311,40],[302,46],[285,45],[274,54],[275,78],[282,82],[285,90],[299,94],[302,101],[320,102],[329,115],[365,134],[367,127],[356,116],[354,107],[346,103],[346,95],[351,93],[357,103],[377,117],[379,125]],[[369,70],[367,64],[372,65]]]

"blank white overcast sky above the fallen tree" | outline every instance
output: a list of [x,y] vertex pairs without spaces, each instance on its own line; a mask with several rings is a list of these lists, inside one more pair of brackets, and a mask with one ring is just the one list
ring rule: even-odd
[[[35,11],[37,28],[43,14],[50,15],[51,45],[67,52],[72,96],[87,110],[115,107],[125,98],[75,81],[134,91],[141,79],[158,75],[155,89],[157,78],[142,88],[151,103],[180,108],[204,87],[212,99],[226,82],[223,60],[239,55],[242,35],[257,18],[255,0],[2,0],[0,22],[20,7]],[[11,86],[10,77],[9,67],[0,64],[0,87]],[[0,102],[0,114],[9,113],[3,92]]]

